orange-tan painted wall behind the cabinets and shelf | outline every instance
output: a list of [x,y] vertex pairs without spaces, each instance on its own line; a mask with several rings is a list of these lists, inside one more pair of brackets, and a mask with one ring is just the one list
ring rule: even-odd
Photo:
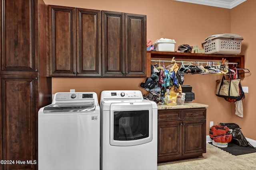
[[[173,0],[44,0],[46,4],[72,6],[96,10],[109,10],[147,15],[147,38],[153,42],[156,39],[169,38],[180,44],[198,45],[210,35],[220,33],[235,33],[244,37],[242,55],[245,55],[245,67],[251,73],[246,74],[242,86],[249,87],[249,93],[243,100],[244,118],[235,115],[234,103],[228,103],[215,96],[216,80],[220,75],[186,74],[184,84],[191,85],[196,99],[193,102],[208,104],[206,117],[206,133],[210,121],[217,123],[237,123],[242,127],[244,135],[256,140],[251,130],[256,119],[253,111],[255,94],[254,87],[254,41],[256,1],[247,0],[232,10],[216,8]],[[253,77],[254,76],[254,77]],[[250,79],[250,81],[249,81]],[[140,82],[145,78],[52,78],[52,93],[76,91],[95,91],[98,96],[102,90],[145,90],[140,88]]]

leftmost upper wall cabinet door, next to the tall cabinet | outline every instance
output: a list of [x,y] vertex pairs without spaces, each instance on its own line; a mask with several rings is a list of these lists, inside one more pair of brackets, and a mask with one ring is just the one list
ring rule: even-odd
[[50,76],[76,76],[75,8],[49,6]]

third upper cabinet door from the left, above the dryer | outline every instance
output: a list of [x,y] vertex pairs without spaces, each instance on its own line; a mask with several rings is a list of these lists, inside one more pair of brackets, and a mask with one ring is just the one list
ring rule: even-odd
[[122,12],[102,11],[102,76],[125,76],[125,19]]

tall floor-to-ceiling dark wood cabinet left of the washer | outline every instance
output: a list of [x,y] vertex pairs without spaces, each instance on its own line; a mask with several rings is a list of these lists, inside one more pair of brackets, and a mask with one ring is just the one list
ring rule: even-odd
[[15,162],[0,170],[37,169],[16,160],[37,161],[38,110],[51,100],[45,10],[43,0],[1,0],[0,160]]

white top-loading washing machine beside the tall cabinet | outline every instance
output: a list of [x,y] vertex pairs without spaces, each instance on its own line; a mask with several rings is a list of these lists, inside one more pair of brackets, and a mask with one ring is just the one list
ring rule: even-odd
[[54,94],[38,111],[39,170],[100,169],[100,106],[95,92]]

